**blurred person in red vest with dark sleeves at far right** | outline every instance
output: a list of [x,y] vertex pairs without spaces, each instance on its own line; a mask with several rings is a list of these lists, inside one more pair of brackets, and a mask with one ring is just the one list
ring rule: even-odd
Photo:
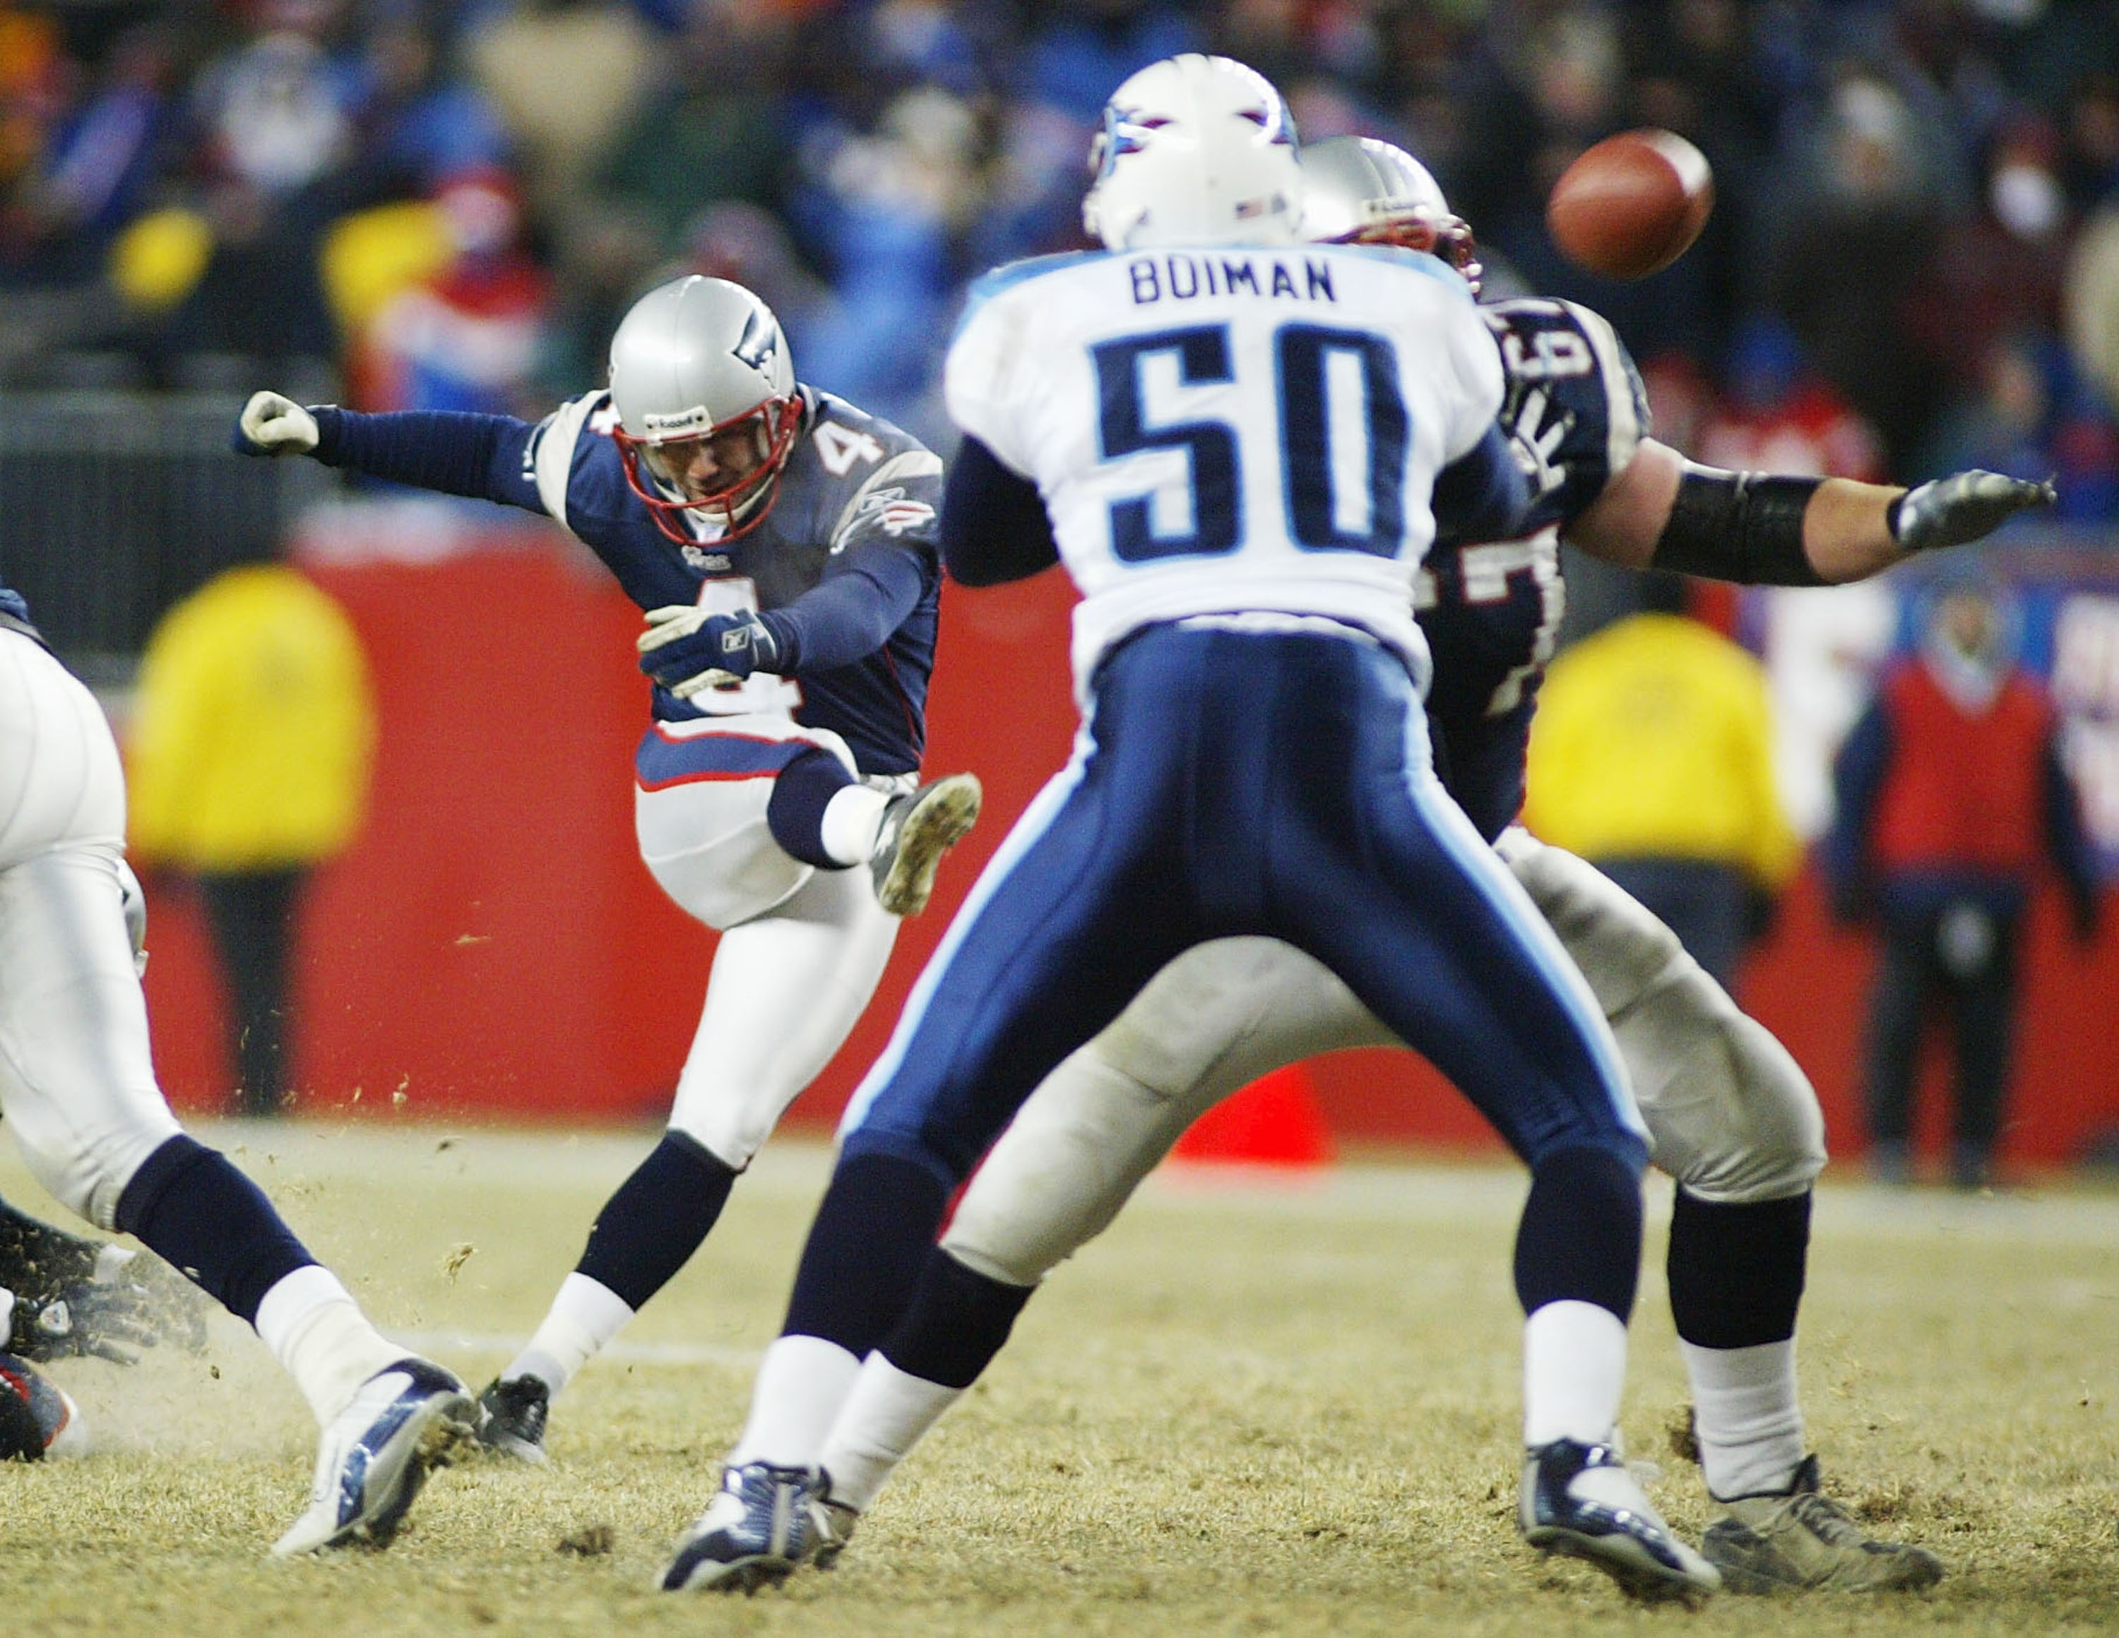
[[1833,765],[1839,818],[1822,858],[1833,911],[1884,937],[1869,998],[1871,1170],[1911,1174],[1913,1074],[1933,1002],[1956,1049],[1958,1187],[1994,1178],[2009,1089],[2024,911],[2045,867],[2096,937],[2096,867],[2053,706],[2017,665],[2015,604],[1996,585],[1945,581],[1920,617],[1920,653],[1892,665]]

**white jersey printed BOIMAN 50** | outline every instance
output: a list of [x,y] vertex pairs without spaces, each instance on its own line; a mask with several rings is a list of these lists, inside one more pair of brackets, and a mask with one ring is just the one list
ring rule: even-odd
[[1282,246],[1047,256],[973,286],[949,413],[1032,479],[1081,587],[1074,680],[1142,625],[1322,617],[1426,680],[1435,475],[1500,354],[1435,256]]

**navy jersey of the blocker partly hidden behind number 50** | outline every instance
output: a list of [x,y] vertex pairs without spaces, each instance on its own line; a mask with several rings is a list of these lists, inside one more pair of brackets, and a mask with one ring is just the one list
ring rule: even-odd
[[1526,299],[1481,314],[1509,373],[1500,424],[1534,464],[1530,532],[1439,540],[1415,595],[1435,655],[1435,765],[1492,841],[1524,805],[1530,714],[1566,610],[1560,530],[1632,464],[1649,430],[1649,396],[1625,345],[1587,307]]

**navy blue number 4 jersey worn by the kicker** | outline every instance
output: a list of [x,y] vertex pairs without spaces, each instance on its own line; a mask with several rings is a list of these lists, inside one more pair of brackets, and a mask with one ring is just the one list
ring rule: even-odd
[[[801,394],[803,432],[771,513],[735,540],[680,547],[655,526],[610,439],[617,411],[608,392],[572,398],[526,428],[515,494],[496,498],[551,513],[642,608],[704,602],[708,581],[723,583],[716,608],[793,610],[833,587],[824,604],[809,604],[826,619],[803,621],[803,610],[793,610],[793,623],[773,623],[776,636],[795,638],[795,718],[841,735],[862,773],[911,773],[926,746],[941,606],[941,458],[843,398],[812,388]],[[704,523],[699,532],[712,534]],[[742,595],[731,598],[735,591]],[[655,691],[661,720],[706,714]]]

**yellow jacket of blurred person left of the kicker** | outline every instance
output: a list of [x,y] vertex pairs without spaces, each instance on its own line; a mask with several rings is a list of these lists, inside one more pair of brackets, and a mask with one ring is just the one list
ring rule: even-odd
[[131,848],[191,871],[309,865],[352,841],[375,754],[354,623],[284,564],[231,568],[140,661]]

